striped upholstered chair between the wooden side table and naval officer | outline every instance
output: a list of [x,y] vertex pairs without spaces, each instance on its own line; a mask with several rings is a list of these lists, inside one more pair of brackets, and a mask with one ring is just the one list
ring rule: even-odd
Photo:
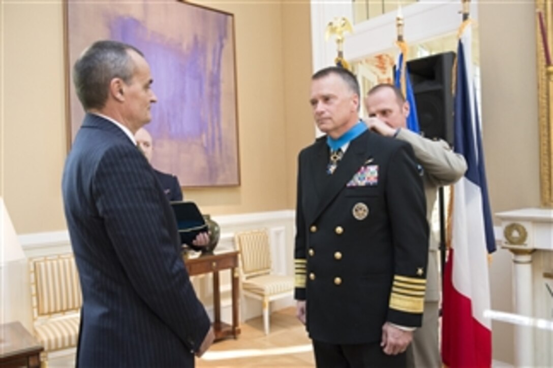
[[269,303],[294,294],[294,277],[274,275],[267,230],[237,233],[240,272],[244,296],[263,303],[263,328],[269,334]]

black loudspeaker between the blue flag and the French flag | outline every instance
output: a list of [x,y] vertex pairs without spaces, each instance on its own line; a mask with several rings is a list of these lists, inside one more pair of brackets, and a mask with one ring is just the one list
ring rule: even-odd
[[451,80],[455,52],[444,52],[407,62],[415,94],[421,134],[453,145]]

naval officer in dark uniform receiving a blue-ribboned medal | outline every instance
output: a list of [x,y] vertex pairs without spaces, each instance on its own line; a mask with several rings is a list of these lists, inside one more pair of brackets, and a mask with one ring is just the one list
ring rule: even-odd
[[311,105],[327,135],[299,155],[298,318],[317,366],[405,366],[428,254],[413,149],[359,122],[359,86],[345,69],[315,73]]

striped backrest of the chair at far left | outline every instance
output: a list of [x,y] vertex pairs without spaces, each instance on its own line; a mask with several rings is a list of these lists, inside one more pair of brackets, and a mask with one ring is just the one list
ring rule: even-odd
[[79,312],[81,284],[72,253],[29,260],[33,318]]

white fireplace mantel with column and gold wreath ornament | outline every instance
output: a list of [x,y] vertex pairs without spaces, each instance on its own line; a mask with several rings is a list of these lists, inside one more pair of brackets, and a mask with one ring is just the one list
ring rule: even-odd
[[[502,248],[513,253],[513,309],[553,320],[553,209],[524,208],[496,214]],[[553,366],[553,332],[515,326],[515,366]]]

